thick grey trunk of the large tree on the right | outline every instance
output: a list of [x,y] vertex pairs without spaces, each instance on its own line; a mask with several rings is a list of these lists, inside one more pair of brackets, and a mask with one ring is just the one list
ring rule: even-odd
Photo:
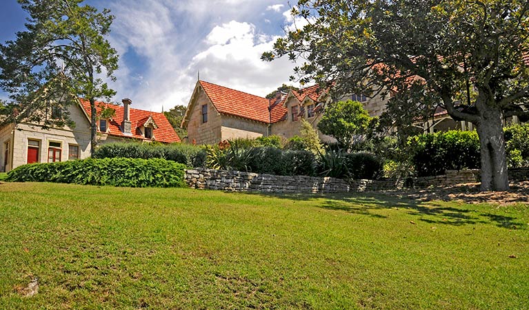
[[479,106],[481,121],[477,134],[481,145],[481,190],[506,191],[509,189],[503,115],[494,103]]

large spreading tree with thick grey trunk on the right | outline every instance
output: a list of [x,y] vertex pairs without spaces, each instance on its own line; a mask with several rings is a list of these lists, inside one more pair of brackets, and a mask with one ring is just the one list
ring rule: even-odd
[[305,59],[301,81],[333,83],[335,93],[393,93],[393,103],[439,105],[472,122],[481,189],[508,189],[502,121],[527,116],[529,1],[300,0],[292,11],[307,25],[263,59]]

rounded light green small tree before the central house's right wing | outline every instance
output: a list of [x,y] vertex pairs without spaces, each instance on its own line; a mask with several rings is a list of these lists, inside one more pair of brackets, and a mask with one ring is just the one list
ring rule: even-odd
[[344,149],[350,149],[359,137],[366,134],[370,119],[358,101],[338,101],[326,108],[318,129],[336,138]]

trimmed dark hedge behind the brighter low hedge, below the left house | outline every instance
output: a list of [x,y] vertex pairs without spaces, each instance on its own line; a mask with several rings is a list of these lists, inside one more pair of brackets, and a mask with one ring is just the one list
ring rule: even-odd
[[206,149],[196,145],[173,143],[157,145],[149,143],[108,143],[94,152],[94,158],[163,158],[188,167],[204,167]]

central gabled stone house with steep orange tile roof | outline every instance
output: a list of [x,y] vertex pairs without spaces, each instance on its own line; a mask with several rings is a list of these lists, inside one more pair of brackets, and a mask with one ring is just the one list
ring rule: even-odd
[[[301,118],[316,127],[327,101],[327,93],[317,85],[266,99],[198,81],[181,126],[188,130],[188,141],[197,144],[270,135],[292,138],[300,133]],[[322,141],[334,140],[319,136]]]

